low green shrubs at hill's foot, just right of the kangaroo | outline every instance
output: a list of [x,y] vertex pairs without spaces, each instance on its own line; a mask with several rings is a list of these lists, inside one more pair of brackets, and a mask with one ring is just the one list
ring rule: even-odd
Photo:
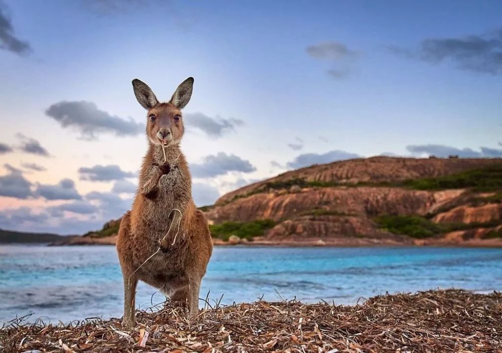
[[209,225],[211,236],[228,240],[230,235],[236,235],[239,238],[252,240],[255,236],[260,236],[267,229],[276,225],[271,219],[258,219],[251,222],[223,222],[220,224]]

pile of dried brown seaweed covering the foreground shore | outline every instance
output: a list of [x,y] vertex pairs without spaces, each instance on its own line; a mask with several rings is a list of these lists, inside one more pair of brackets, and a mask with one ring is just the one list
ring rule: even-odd
[[6,352],[502,351],[497,292],[386,295],[356,306],[259,301],[203,310],[190,319],[167,306],[138,312],[137,319],[134,330],[123,329],[118,319],[68,326],[11,322],[0,331],[0,345]]

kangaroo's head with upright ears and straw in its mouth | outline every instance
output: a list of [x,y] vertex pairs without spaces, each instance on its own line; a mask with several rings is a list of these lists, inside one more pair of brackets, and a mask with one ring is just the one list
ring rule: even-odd
[[185,128],[181,110],[192,97],[193,77],[181,82],[167,103],[160,103],[150,87],[140,81],[133,80],[134,94],[147,114],[147,136],[154,145],[170,145],[180,142]]

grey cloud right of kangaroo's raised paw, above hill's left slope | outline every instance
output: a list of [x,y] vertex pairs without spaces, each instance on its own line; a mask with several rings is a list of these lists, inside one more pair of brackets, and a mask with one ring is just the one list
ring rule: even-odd
[[235,154],[219,152],[216,155],[208,155],[203,158],[202,163],[190,166],[192,175],[196,178],[216,177],[216,175],[226,174],[229,171],[241,171],[249,173],[256,170],[248,160],[241,159]]

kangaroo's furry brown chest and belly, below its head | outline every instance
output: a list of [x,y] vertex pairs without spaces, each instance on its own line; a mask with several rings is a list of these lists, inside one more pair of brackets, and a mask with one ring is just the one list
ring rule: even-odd
[[[191,176],[185,157],[179,148],[166,150],[166,157],[171,165],[170,172],[160,177],[153,195],[136,195],[131,212],[131,251],[135,265],[140,266],[157,251],[161,240],[169,244],[168,252],[154,256],[140,270],[154,280],[159,277],[159,281],[160,277],[174,276],[184,268],[190,257],[189,236],[193,233],[190,220],[195,216]],[[140,188],[151,178],[152,168],[162,163],[161,148],[149,151],[140,172]]]

